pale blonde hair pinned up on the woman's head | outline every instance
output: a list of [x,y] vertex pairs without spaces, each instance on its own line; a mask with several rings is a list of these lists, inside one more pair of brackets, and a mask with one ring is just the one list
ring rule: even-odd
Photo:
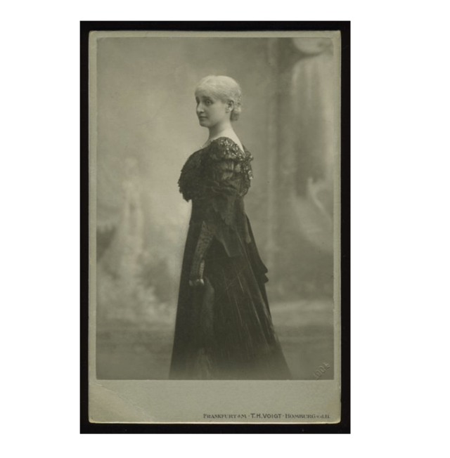
[[219,98],[222,102],[233,102],[233,110],[231,111],[230,120],[237,121],[239,114],[242,111],[242,91],[240,86],[233,78],[214,76],[203,78],[195,88],[195,95],[199,91],[207,91],[214,98]]

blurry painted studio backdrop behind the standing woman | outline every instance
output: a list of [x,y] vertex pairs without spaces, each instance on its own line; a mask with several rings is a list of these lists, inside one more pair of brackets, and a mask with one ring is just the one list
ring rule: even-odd
[[236,79],[255,178],[245,208],[296,379],[333,379],[331,39],[104,38],[97,54],[98,379],[167,379],[191,203],[181,167],[207,139],[194,89]]

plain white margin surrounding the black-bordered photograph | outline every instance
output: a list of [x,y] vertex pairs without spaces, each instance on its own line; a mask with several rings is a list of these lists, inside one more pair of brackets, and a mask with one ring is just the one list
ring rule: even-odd
[[[79,433],[77,16],[127,13],[198,21],[212,16],[211,7],[220,20],[352,19],[352,434],[360,447],[327,453],[391,456],[409,447],[431,452],[447,417],[446,15],[412,6],[392,11],[388,2],[384,8],[228,2],[196,4],[198,11],[183,5],[83,8],[46,2],[4,8],[2,431],[13,455],[77,452],[72,447]],[[298,433],[302,430],[299,426]],[[267,454],[323,450],[322,441],[307,447],[296,441],[289,450],[282,441],[266,438],[260,446]],[[176,442],[173,447],[184,451],[191,440]],[[214,441],[206,449],[236,452],[236,446],[218,445]],[[257,452],[255,441],[251,446]],[[113,447],[117,454],[138,452]],[[79,452],[110,454],[113,447]],[[151,447],[139,452],[155,452]]]

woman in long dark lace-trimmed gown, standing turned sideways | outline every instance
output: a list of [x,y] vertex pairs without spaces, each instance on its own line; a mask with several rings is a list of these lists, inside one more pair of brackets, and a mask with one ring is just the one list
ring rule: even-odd
[[210,135],[179,179],[192,214],[169,377],[288,379],[266,296],[267,269],[243,204],[253,157],[231,126],[241,110],[240,87],[229,77],[205,77],[195,100]]

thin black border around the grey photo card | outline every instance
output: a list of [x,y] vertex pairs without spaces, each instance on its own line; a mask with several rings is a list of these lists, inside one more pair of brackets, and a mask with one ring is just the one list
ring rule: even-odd
[[[341,421],[338,424],[97,424],[88,413],[89,32],[92,30],[341,32]],[[350,34],[351,21],[79,21],[80,434],[349,434],[350,415]]]

